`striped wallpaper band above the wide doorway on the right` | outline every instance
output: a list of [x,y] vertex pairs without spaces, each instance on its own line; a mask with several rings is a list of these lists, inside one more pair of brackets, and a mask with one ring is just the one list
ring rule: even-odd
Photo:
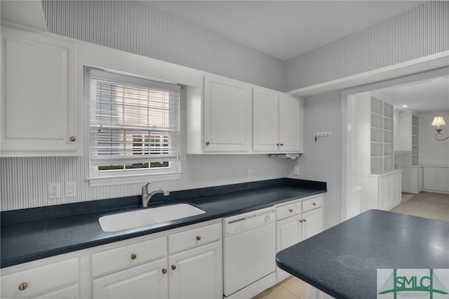
[[426,4],[286,61],[288,91],[449,50],[449,1]]

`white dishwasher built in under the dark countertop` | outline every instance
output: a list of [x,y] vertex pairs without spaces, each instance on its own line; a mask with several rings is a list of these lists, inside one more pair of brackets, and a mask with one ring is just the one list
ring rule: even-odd
[[223,293],[252,298],[276,284],[275,208],[223,219]]

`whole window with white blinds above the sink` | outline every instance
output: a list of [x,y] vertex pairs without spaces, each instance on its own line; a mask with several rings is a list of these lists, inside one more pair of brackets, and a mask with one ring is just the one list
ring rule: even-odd
[[180,86],[91,67],[86,79],[91,185],[180,178]]

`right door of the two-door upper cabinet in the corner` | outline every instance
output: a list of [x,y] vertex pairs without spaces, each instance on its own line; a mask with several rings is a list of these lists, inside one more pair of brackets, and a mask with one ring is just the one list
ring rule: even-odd
[[302,121],[302,99],[279,95],[279,152],[303,152]]

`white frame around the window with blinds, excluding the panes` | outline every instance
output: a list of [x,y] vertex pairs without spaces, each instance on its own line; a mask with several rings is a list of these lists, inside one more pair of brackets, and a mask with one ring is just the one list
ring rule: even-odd
[[[95,72],[95,77],[102,77],[98,75],[98,72],[105,74],[104,79],[114,79],[116,76],[121,78],[129,79],[129,83],[132,85],[142,84],[142,86],[149,87],[148,84],[156,84],[154,88],[160,88],[161,86],[182,86],[179,84],[168,83],[165,81],[156,81],[155,79],[149,79],[145,77],[140,77],[135,74],[128,74],[123,72],[117,72],[110,69],[98,69],[95,67],[84,66],[84,103],[86,104],[86,150],[87,150],[87,175],[86,180],[92,187],[95,186],[106,186],[106,185],[124,185],[138,182],[148,182],[148,181],[159,181],[159,180],[179,180],[182,177],[181,171],[181,105],[183,93],[179,91],[179,100],[175,103],[177,108],[175,109],[177,118],[177,158],[170,159],[168,168],[128,168],[128,169],[114,169],[114,170],[98,170],[98,162],[93,163],[93,147],[91,142],[96,142],[98,139],[91,133],[91,72]],[[149,130],[150,131],[150,130]],[[143,135],[142,135],[143,136]],[[142,137],[141,136],[141,137]],[[145,137],[143,137],[145,138]],[[151,142],[151,141],[150,141]],[[126,158],[125,158],[126,160]],[[133,164],[133,155],[130,155],[128,164]],[[142,160],[142,159],[140,159]],[[162,160],[160,160],[162,161]],[[155,162],[154,160],[147,159],[147,163]],[[140,163],[140,162],[138,162]],[[109,164],[109,163],[107,163]],[[106,164],[105,164],[106,165]],[[110,164],[109,164],[110,165]]]

